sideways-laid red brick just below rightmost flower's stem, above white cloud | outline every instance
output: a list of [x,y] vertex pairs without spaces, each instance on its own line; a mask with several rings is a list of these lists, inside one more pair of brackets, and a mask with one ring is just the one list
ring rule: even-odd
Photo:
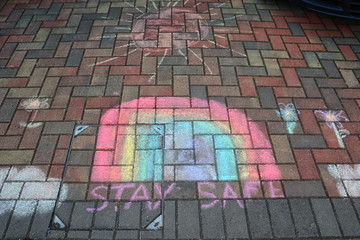
[[313,149],[317,163],[350,163],[350,157],[346,150]]

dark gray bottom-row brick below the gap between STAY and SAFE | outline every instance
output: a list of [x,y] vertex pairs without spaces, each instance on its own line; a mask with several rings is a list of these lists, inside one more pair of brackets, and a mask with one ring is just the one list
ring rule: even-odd
[[198,201],[178,201],[178,238],[200,238]]

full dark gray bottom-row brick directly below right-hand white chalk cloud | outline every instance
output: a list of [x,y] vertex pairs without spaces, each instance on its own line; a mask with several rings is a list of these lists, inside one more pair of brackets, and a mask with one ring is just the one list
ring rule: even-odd
[[332,199],[340,226],[346,237],[360,236],[359,219],[349,198]]

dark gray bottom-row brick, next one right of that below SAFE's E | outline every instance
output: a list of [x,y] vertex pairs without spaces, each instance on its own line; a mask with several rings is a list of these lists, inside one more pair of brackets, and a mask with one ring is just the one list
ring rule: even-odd
[[297,237],[318,237],[319,233],[309,200],[290,199],[290,207],[295,222]]

